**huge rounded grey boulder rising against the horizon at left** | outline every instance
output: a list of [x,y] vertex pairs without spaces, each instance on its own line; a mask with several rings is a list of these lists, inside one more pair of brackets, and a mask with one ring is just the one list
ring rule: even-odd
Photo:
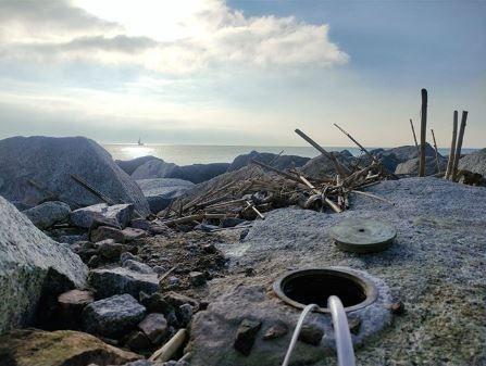
[[36,205],[57,199],[73,209],[100,202],[71,175],[116,203],[134,203],[140,214],[150,213],[140,188],[90,139],[35,136],[0,141],[0,194],[10,201]]

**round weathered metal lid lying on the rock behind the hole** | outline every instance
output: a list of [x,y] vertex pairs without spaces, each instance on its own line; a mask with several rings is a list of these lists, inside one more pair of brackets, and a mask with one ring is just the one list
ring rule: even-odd
[[381,252],[391,245],[397,230],[389,224],[367,218],[348,218],[332,227],[331,237],[347,252]]

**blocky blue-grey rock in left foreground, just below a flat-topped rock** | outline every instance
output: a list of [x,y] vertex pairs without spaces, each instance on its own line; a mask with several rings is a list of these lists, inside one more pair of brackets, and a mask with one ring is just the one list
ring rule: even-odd
[[95,301],[83,311],[83,329],[92,335],[121,337],[135,328],[146,308],[125,293]]

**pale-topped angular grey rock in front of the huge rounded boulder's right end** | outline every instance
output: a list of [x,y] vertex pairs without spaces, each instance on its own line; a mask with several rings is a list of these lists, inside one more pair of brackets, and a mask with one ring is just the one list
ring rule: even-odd
[[109,206],[99,203],[91,206],[74,210],[71,213],[71,224],[77,227],[90,228],[95,220],[102,220],[104,225],[123,229],[132,218],[133,204],[115,204]]

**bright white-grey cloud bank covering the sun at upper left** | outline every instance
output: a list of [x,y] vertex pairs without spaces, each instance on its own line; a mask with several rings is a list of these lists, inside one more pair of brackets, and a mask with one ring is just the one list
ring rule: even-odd
[[[177,2],[179,3],[179,2]],[[123,64],[164,74],[219,65],[344,64],[327,25],[247,17],[223,0],[0,0],[0,61]]]

